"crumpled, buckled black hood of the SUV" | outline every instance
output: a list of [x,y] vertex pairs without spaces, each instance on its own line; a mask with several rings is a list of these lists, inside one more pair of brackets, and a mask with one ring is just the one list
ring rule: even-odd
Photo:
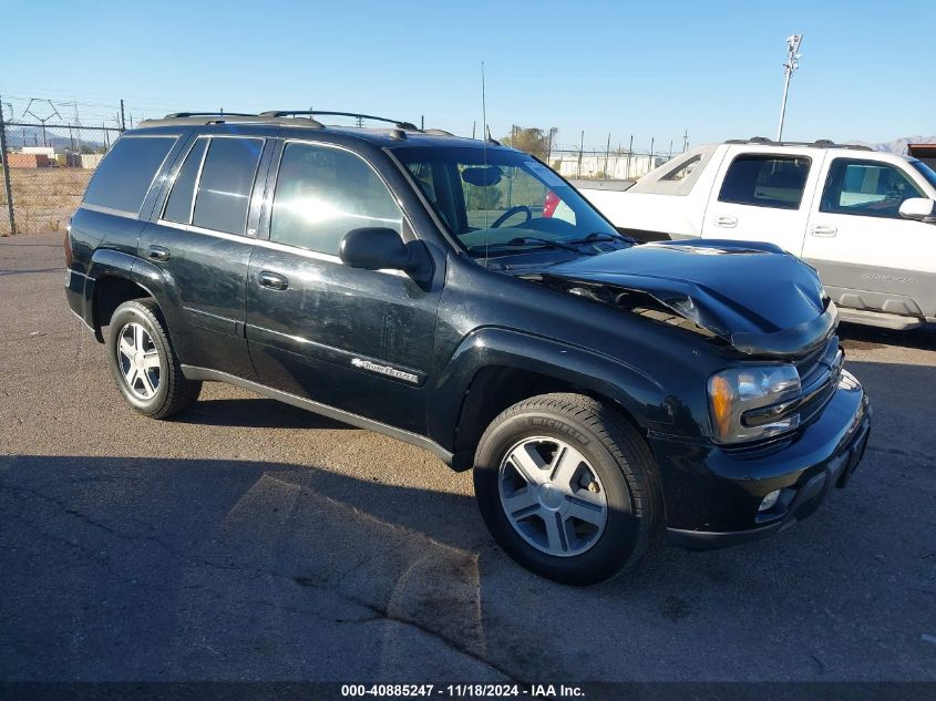
[[806,353],[837,322],[815,270],[772,244],[645,244],[552,266],[543,278],[645,292],[749,354]]

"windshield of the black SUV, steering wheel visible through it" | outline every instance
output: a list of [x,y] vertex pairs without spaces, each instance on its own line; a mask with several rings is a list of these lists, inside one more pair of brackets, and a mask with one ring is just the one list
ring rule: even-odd
[[414,146],[394,155],[474,257],[617,237],[572,186],[527,154],[479,145]]

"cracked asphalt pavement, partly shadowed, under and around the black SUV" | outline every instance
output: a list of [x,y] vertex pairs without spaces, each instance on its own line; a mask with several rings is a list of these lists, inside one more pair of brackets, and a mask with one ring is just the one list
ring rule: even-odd
[[61,235],[0,241],[0,679],[936,681],[936,336],[843,328],[875,425],[809,520],[589,589],[471,476],[220,384],[128,411]]

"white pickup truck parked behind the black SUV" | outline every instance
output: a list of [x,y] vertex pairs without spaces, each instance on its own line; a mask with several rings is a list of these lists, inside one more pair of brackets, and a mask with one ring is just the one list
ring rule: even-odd
[[936,321],[936,173],[916,158],[730,141],[689,151],[624,192],[579,189],[640,240],[776,244],[819,270],[845,320]]

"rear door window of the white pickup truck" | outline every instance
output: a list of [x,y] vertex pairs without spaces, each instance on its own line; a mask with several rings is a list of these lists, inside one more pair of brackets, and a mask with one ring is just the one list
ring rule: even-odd
[[719,202],[776,209],[799,209],[810,174],[805,156],[743,154],[724,175]]

